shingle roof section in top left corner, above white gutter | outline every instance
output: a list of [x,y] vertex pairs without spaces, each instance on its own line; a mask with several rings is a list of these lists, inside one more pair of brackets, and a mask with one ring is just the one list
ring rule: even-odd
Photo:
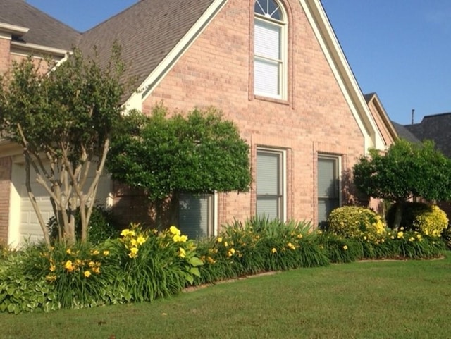
[[70,50],[77,43],[80,32],[48,16],[24,0],[1,0],[0,23],[30,30],[20,42]]

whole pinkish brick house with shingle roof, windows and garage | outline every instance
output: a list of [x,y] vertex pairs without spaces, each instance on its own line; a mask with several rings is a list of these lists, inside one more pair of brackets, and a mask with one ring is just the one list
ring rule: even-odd
[[[141,0],[84,33],[23,0],[1,0],[3,72],[25,54],[62,58],[73,44],[96,46],[106,58],[114,41],[140,83],[128,109],[216,106],[249,142],[252,189],[185,195],[179,226],[189,235],[216,234],[221,224],[256,214],[316,225],[347,202],[344,173],[359,156],[385,149],[396,135],[359,90],[319,0]],[[41,50],[27,49],[34,46]],[[40,232],[23,195],[20,159],[18,147],[0,144],[0,238],[8,242]],[[141,197],[108,178],[103,185],[99,199],[121,218],[145,211]],[[42,195],[39,204],[47,200]]]

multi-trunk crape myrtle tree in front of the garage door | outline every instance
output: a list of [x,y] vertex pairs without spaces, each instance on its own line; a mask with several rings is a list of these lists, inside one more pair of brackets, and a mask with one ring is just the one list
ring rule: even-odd
[[86,240],[111,131],[121,116],[124,70],[114,46],[106,65],[75,49],[58,64],[37,64],[31,57],[14,63],[0,78],[1,136],[23,147],[27,192],[47,243],[47,221],[30,183],[49,194],[60,239],[75,241],[79,209]]

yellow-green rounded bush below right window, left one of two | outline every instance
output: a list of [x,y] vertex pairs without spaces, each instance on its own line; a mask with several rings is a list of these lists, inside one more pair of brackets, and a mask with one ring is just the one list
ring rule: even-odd
[[330,212],[328,231],[345,238],[366,236],[376,239],[385,232],[385,224],[381,216],[371,209],[345,206]]

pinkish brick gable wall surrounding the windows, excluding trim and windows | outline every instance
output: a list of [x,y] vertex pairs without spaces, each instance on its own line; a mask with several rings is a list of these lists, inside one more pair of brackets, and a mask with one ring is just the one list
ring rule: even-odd
[[[287,150],[288,218],[316,221],[318,153],[342,156],[342,169],[364,152],[364,137],[323,56],[299,1],[289,13],[287,101],[252,94],[252,1],[230,0],[143,104],[144,113],[163,101],[170,110],[216,106],[235,121],[252,149]],[[255,185],[247,194],[220,195],[218,222],[255,213]]]

